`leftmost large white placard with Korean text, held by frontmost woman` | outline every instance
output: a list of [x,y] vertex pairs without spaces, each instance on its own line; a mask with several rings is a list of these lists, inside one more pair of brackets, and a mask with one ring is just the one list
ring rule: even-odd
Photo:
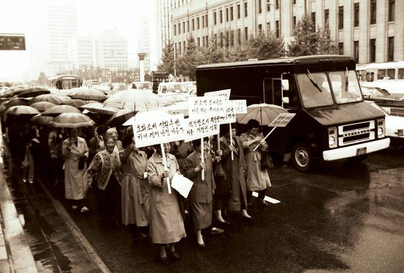
[[184,139],[184,115],[170,115],[135,121],[133,132],[136,147],[167,143]]

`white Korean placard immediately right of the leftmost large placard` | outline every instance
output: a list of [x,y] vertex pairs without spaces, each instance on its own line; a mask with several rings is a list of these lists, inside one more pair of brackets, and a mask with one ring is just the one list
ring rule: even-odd
[[185,141],[187,142],[219,133],[219,115],[193,116],[184,120],[186,123]]

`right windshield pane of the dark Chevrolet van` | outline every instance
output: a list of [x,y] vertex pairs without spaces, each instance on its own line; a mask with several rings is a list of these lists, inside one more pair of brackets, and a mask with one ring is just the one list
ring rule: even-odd
[[337,104],[362,101],[362,94],[360,93],[355,71],[334,71],[329,72],[329,75]]

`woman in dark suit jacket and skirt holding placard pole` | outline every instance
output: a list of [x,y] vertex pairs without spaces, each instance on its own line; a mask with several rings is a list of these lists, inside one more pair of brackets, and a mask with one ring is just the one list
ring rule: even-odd
[[[213,178],[212,157],[207,152],[207,138],[203,139],[203,156],[201,153],[201,140],[193,140],[192,144],[195,151],[186,159],[184,174],[194,182],[188,195],[188,202],[198,245],[205,247],[201,230],[212,224],[212,200],[216,186]],[[204,173],[203,179],[202,172]]]

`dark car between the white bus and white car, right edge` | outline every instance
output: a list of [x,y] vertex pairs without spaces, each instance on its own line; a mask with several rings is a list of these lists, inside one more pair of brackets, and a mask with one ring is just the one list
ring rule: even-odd
[[363,98],[375,102],[393,116],[404,117],[404,98],[399,96],[385,95],[385,93],[374,87],[362,86]]

